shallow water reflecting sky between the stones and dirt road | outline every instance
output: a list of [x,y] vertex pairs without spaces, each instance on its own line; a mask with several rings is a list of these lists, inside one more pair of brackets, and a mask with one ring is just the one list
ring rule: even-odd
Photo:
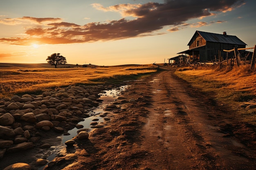
[[[104,107],[106,105],[109,105],[111,102],[117,100],[117,97],[121,94],[121,92],[125,91],[127,88],[128,88],[128,85],[125,85],[125,86],[118,87],[116,89],[104,91],[106,93],[100,93],[99,96],[101,96],[101,97],[99,99],[101,99],[103,101],[99,104],[99,106],[97,108],[92,109],[95,115],[90,116],[89,118],[85,118],[84,121],[79,122],[79,124],[82,124],[83,128],[92,130],[90,123],[93,122],[92,121],[93,119],[99,119],[98,121],[94,121],[94,122],[98,122],[98,123],[103,122],[103,118],[99,116],[100,115],[99,113],[103,113]],[[61,135],[61,136],[58,136],[57,138],[62,139],[62,145],[63,145],[67,140],[70,140],[73,137],[75,137],[77,135],[78,130],[79,129],[74,128],[74,129],[68,131],[68,133],[70,133],[70,135],[65,135],[65,136]],[[56,147],[58,147],[58,146],[56,146]],[[47,157],[47,160],[52,161],[55,157],[56,157],[56,153],[53,152],[49,157]],[[43,170],[43,168],[45,166],[40,167],[38,170]]]

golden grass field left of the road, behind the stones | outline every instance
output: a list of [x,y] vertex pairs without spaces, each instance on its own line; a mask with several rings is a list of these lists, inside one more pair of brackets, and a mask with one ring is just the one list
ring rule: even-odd
[[125,65],[88,68],[1,68],[0,98],[14,94],[41,92],[49,88],[94,82],[113,76],[155,72],[155,65]]

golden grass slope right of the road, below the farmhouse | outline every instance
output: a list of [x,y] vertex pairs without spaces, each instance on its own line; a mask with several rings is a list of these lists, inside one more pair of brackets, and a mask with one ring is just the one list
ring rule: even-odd
[[256,99],[256,72],[249,65],[240,68],[177,69],[175,74],[203,92],[212,93],[215,100],[229,105],[242,122],[256,125],[256,109],[240,107],[243,102]]

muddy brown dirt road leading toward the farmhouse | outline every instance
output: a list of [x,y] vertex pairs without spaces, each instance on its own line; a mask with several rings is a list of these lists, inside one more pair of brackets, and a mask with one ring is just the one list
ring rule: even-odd
[[241,125],[233,113],[174,71],[131,82],[117,108],[106,111],[104,128],[66,150],[77,159],[59,157],[47,169],[255,169],[255,146],[243,141],[246,131],[234,129]]

